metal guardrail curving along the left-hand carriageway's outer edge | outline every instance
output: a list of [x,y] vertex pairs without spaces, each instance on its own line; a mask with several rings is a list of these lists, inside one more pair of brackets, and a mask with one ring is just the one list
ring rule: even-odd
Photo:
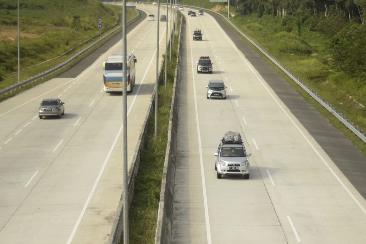
[[[135,20],[136,18],[139,17],[139,13],[132,19],[128,20],[127,23]],[[104,37],[102,37],[101,39],[94,41],[92,44],[90,44],[89,46],[87,46],[85,49],[81,50],[80,52],[76,53],[74,56],[72,56],[70,59],[64,61],[63,63],[57,65],[56,67],[52,68],[51,70],[45,71],[41,74],[38,74],[37,76],[33,76],[27,80],[24,80],[23,82],[20,82],[14,86],[10,86],[2,91],[0,91],[0,95],[8,93],[18,87],[22,87],[30,82],[39,80],[39,79],[44,79],[46,76],[48,75],[52,75],[55,72],[59,71],[60,69],[66,67],[67,65],[69,65],[72,61],[74,61],[75,59],[77,59],[79,56],[83,55],[85,52],[87,52],[88,50],[90,50],[91,48],[93,48],[94,46],[96,46],[99,42],[105,40],[106,38],[108,38],[109,36],[113,35],[114,33],[116,33],[117,31],[119,31],[120,29],[122,29],[122,25],[120,27],[118,27],[117,29],[111,31],[110,33],[108,33],[107,35],[105,35]]]

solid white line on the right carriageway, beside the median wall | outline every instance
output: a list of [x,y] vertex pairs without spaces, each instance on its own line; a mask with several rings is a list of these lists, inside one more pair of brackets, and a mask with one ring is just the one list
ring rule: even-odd
[[[190,30],[190,24],[188,22],[188,30]],[[191,39],[189,39],[190,47],[192,47]],[[193,53],[191,48],[191,62],[193,64]],[[201,167],[201,178],[202,178],[202,193],[203,193],[203,206],[205,209],[205,221],[206,221],[206,234],[207,234],[207,243],[212,244],[211,240],[211,229],[210,229],[210,219],[208,214],[208,203],[207,203],[207,193],[206,193],[206,181],[205,181],[205,172],[203,168],[203,157],[202,157],[202,145],[201,145],[201,133],[199,131],[199,120],[198,120],[198,108],[197,108],[197,95],[196,95],[196,84],[194,79],[194,65],[192,65],[192,80],[193,80],[193,94],[194,94],[194,108],[196,113],[196,121],[197,121],[197,136],[198,136],[198,149],[199,149],[199,162]]]

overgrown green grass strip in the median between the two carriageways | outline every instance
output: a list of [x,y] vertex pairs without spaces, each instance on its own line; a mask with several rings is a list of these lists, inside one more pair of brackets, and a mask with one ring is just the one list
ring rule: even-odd
[[[135,178],[134,196],[129,210],[130,243],[148,244],[155,241],[161,179],[165,150],[167,149],[172,90],[177,65],[178,41],[177,36],[174,40],[174,46],[172,46],[171,61],[168,62],[167,90],[164,89],[165,61],[160,78],[157,140],[156,142],[154,140],[155,114],[153,113],[148,124],[145,144],[141,150],[140,165]],[[165,54],[163,59],[165,59]]]

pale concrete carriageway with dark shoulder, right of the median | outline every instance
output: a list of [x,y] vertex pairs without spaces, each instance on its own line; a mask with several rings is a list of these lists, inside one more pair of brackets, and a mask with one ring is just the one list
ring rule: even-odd
[[[366,243],[365,156],[232,30],[187,10],[172,243]],[[213,74],[197,74],[200,56]],[[210,79],[224,80],[226,100],[206,99]],[[216,178],[227,131],[252,153],[248,180]]]

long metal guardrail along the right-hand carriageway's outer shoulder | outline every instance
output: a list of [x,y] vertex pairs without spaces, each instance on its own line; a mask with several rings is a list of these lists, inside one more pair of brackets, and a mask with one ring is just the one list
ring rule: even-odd
[[338,110],[336,110],[335,107],[332,106],[332,104],[329,104],[329,102],[325,101],[320,95],[315,93],[309,86],[307,86],[302,80],[297,78],[290,70],[285,68],[275,57],[270,55],[266,50],[264,50],[261,46],[259,46],[257,43],[255,43],[250,37],[248,37],[246,34],[244,34],[238,27],[236,27],[227,17],[225,17],[223,14],[220,14],[218,12],[209,10],[207,8],[198,8],[195,6],[189,6],[189,5],[181,5],[184,7],[190,7],[195,9],[202,9],[209,12],[213,12],[217,15],[220,15],[223,17],[236,31],[238,31],[243,37],[245,37],[251,44],[253,44],[259,51],[261,51],[268,59],[270,59],[274,64],[276,64],[285,74],[287,74],[294,82],[296,82],[302,89],[304,89],[311,97],[313,97],[316,101],[318,101],[324,108],[326,108],[330,113],[332,113],[339,121],[341,121],[344,125],[347,126],[354,134],[356,134],[361,140],[363,140],[366,143],[366,134],[363,133],[362,129],[358,129],[358,126],[354,125],[353,122],[351,122],[349,119],[346,118],[346,116],[342,115]]

